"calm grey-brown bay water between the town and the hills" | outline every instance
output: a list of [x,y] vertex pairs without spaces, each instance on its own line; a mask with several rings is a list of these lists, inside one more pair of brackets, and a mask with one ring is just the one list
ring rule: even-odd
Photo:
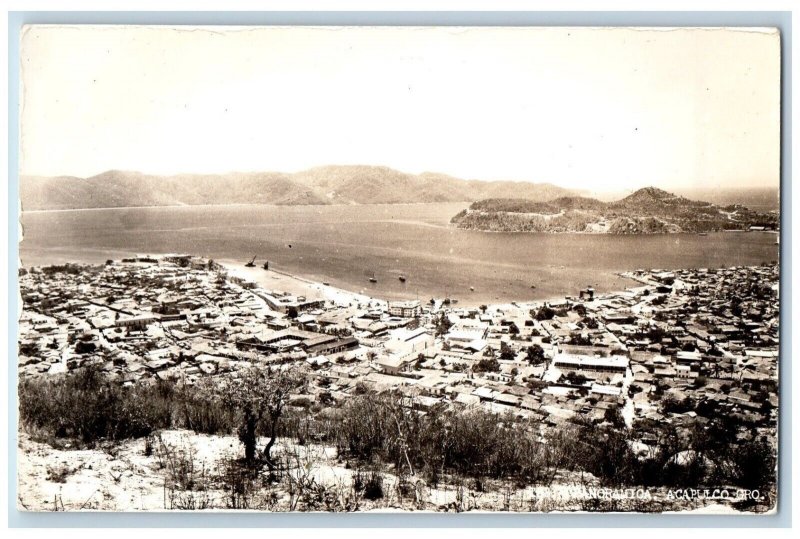
[[[191,206],[28,212],[23,265],[102,262],[131,253],[254,255],[271,267],[389,299],[462,304],[529,301],[631,282],[639,268],[776,261],[775,234],[610,236],[488,233],[448,224],[465,203],[369,206]],[[374,275],[376,283],[370,283]],[[399,277],[404,276],[405,282]],[[474,290],[471,290],[474,289]]]

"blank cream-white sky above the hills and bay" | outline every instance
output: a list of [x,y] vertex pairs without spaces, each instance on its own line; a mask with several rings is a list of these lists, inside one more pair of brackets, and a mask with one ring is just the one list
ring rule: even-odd
[[21,167],[777,187],[779,48],[719,29],[35,26]]

